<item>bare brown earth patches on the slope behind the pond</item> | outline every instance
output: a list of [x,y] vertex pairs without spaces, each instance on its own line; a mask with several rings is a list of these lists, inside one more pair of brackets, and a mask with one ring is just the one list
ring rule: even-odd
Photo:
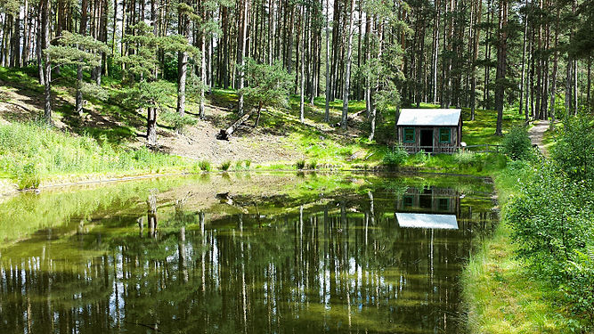
[[[64,89],[72,90],[70,88],[60,88],[60,90]],[[71,94],[60,94],[60,96],[53,94],[53,108],[55,109],[64,103],[74,105],[74,98],[72,97],[74,92],[69,93]],[[37,92],[27,90],[25,87],[0,82],[0,124],[40,118],[43,115],[44,102],[42,97],[38,95]],[[97,109],[99,108],[97,107]],[[93,106],[85,108],[83,125],[100,128],[123,126],[118,119],[102,114],[102,110],[97,109]],[[267,131],[261,127],[255,128],[252,119],[249,119],[245,125],[240,126],[229,141],[217,140],[216,134],[219,133],[220,129],[229,126],[230,121],[227,118],[232,110],[207,105],[205,111],[206,119],[200,120],[196,126],[185,128],[182,134],[177,134],[175,131],[162,126],[158,127],[160,150],[190,159],[207,159],[213,164],[220,164],[226,160],[249,159],[253,163],[265,163],[295,161],[303,158],[295,147],[284,138],[284,134]],[[134,115],[134,118],[138,121],[138,125],[135,127],[136,133],[139,135],[126,145],[130,147],[144,145],[144,138],[141,135],[146,131],[143,127],[143,117],[143,115]],[[266,115],[263,113],[264,117]],[[59,115],[54,114],[53,122],[54,126],[73,132],[67,119],[61,119]]]

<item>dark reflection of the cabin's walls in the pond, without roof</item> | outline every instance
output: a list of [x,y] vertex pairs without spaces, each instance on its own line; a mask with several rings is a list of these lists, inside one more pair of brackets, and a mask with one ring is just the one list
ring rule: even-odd
[[460,215],[460,194],[447,188],[409,188],[396,201],[396,210],[405,213]]

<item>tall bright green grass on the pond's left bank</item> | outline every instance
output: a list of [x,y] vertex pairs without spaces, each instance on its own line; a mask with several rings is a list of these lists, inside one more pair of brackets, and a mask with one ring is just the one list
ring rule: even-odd
[[0,170],[20,189],[35,188],[48,175],[154,171],[182,167],[183,159],[149,151],[115,150],[107,141],[97,143],[37,123],[0,126]]

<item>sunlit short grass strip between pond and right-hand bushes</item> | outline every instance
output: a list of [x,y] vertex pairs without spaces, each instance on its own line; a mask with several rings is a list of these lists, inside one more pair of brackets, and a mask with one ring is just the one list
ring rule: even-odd
[[[512,165],[495,177],[500,208],[517,191],[521,170]],[[472,333],[569,333],[576,322],[562,305],[560,292],[533,277],[515,255],[510,228],[501,222],[469,258],[462,274],[463,299]]]

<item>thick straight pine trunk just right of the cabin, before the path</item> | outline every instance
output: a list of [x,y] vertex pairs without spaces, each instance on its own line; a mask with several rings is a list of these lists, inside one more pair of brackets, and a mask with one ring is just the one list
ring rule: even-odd
[[495,108],[497,109],[497,128],[495,134],[502,135],[501,124],[503,120],[503,102],[505,94],[505,72],[507,61],[507,39],[508,39],[508,0],[500,0],[499,9],[499,47],[497,52],[497,79],[496,79],[496,94],[495,94]]

